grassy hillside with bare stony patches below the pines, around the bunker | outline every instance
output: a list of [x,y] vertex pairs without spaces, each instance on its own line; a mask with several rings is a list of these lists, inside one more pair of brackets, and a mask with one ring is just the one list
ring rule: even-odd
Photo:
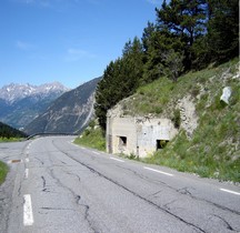
[[[229,104],[220,100],[230,87]],[[170,118],[178,135],[147,162],[223,180],[240,181],[239,60],[199,72],[178,82],[159,79],[121,101],[123,115]]]

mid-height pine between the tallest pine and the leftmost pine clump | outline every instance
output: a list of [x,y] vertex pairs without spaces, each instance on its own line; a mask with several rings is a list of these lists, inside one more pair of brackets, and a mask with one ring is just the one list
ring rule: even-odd
[[[167,29],[154,28],[148,40],[144,38],[148,49],[146,50],[146,63],[143,83],[152,82],[162,75],[177,80],[182,72],[182,42],[179,37],[170,33]],[[173,69],[174,68],[174,69]]]

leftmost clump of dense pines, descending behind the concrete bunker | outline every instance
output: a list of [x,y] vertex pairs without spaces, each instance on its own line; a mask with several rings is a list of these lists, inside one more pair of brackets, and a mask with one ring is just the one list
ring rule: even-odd
[[120,100],[132,94],[139,87],[142,75],[142,44],[138,38],[129,40],[122,51],[122,58],[111,61],[96,91],[96,115],[106,130],[107,111]]

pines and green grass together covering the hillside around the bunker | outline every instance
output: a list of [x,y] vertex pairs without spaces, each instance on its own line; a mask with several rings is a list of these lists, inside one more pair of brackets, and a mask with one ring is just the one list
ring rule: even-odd
[[[121,58],[109,63],[97,87],[102,131],[107,111],[120,101],[124,114],[170,116],[179,134],[147,162],[240,181],[240,87],[232,78],[239,63],[223,64],[239,54],[238,0],[164,0],[156,16],[142,38],[127,42]],[[226,85],[233,92],[229,105],[220,101]],[[176,108],[187,94],[199,119],[190,139]]]

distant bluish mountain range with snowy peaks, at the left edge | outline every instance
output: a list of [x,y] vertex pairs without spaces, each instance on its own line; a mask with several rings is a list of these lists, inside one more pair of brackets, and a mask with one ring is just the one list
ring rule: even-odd
[[4,85],[0,89],[0,121],[22,129],[67,91],[59,82]]

